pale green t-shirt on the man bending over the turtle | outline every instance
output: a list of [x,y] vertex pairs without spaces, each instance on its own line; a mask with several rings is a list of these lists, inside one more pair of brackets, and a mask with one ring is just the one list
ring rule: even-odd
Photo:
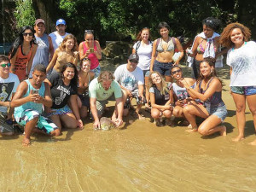
[[98,101],[105,101],[108,99],[108,97],[112,96],[114,94],[114,97],[120,98],[122,97],[122,90],[118,82],[115,80],[112,81],[110,87],[108,90],[105,90],[102,87],[102,84],[98,82],[98,79],[93,79],[90,81],[89,85],[89,96],[92,98],[96,98]]

